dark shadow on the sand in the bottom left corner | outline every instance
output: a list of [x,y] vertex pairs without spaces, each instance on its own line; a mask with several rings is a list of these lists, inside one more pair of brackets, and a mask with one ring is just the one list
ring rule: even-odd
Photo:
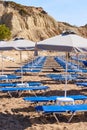
[[0,130],[25,130],[28,127],[31,127],[30,117],[0,113]]

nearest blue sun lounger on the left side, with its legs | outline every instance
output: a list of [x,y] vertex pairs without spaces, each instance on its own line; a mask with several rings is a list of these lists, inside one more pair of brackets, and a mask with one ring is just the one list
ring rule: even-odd
[[[46,90],[48,89],[48,86],[30,86],[30,87],[2,87],[0,88],[0,92],[7,92],[10,97],[12,97],[11,92],[18,92],[18,95],[20,96],[23,91],[37,91],[37,90]],[[34,93],[36,96],[36,94]]]

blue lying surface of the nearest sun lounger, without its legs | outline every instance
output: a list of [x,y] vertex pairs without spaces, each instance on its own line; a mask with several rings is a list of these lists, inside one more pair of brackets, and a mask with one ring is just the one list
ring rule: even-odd
[[43,111],[45,113],[53,113],[53,112],[81,112],[87,111],[87,104],[75,104],[75,105],[43,105],[36,106],[35,109],[37,111]]

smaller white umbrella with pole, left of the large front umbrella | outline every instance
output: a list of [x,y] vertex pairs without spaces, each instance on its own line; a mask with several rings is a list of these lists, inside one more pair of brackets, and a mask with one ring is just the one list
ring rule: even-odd
[[[22,71],[22,51],[34,50],[35,43],[26,39],[17,39],[13,41],[8,41],[0,44],[0,51],[5,50],[18,50],[20,52],[20,61],[21,61],[21,75],[23,79]],[[23,83],[23,80],[22,80]]]

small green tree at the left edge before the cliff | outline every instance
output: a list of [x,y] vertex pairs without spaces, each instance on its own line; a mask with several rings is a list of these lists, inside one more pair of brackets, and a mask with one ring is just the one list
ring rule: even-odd
[[5,24],[0,25],[0,40],[9,40],[11,38],[11,31]]

